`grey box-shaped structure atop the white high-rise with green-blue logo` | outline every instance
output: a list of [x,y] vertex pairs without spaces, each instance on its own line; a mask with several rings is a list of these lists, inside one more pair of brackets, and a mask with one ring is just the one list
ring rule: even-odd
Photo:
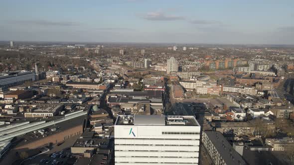
[[135,115],[134,125],[165,125],[165,117],[157,115]]

